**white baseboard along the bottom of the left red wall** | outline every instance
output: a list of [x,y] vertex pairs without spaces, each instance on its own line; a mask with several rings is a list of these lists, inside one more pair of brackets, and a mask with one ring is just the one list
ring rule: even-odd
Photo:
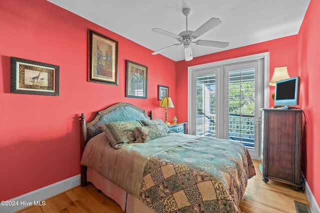
[[26,193],[11,200],[5,201],[4,206],[2,204],[3,202],[1,202],[0,213],[13,213],[32,205],[44,206],[45,201],[43,200],[80,185],[80,178],[81,175],[76,175],[49,186]]

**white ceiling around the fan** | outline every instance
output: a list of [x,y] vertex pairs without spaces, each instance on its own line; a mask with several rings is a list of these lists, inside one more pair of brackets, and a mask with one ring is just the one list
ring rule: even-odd
[[[48,0],[152,51],[176,39],[152,32],[161,28],[174,34],[185,30],[182,8],[188,7],[188,30],[209,18],[221,24],[199,36],[229,42],[225,49],[192,44],[193,57],[297,34],[310,0]],[[108,36],[108,35],[106,35]],[[151,53],[150,53],[151,54]],[[183,46],[161,53],[184,60]],[[156,57],[156,56],[154,56]]]

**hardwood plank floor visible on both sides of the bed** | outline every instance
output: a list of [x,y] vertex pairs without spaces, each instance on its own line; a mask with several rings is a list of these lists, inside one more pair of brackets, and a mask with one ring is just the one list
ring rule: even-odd
[[[241,213],[295,213],[294,201],[308,204],[306,195],[295,191],[290,185],[269,180],[264,183],[259,161],[254,161],[256,176],[248,181],[240,203]],[[33,206],[18,213],[122,213],[111,199],[98,193],[89,184],[75,187],[45,201],[45,206]]]

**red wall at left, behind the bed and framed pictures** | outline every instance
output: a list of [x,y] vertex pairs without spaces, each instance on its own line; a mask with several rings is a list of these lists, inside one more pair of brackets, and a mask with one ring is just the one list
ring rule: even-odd
[[[87,81],[88,28],[118,41],[118,86]],[[157,85],[176,100],[174,61],[46,0],[1,0],[0,39],[1,201],[80,173],[81,113],[130,102],[164,119]],[[59,65],[60,95],[10,93],[10,56]],[[147,99],[125,97],[125,59],[148,67]]]

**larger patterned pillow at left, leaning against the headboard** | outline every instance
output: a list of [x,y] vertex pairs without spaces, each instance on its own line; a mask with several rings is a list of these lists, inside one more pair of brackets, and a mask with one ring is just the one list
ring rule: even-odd
[[138,121],[120,121],[99,126],[114,149],[120,149],[125,144],[135,141],[133,133],[135,127],[142,127],[142,125]]

